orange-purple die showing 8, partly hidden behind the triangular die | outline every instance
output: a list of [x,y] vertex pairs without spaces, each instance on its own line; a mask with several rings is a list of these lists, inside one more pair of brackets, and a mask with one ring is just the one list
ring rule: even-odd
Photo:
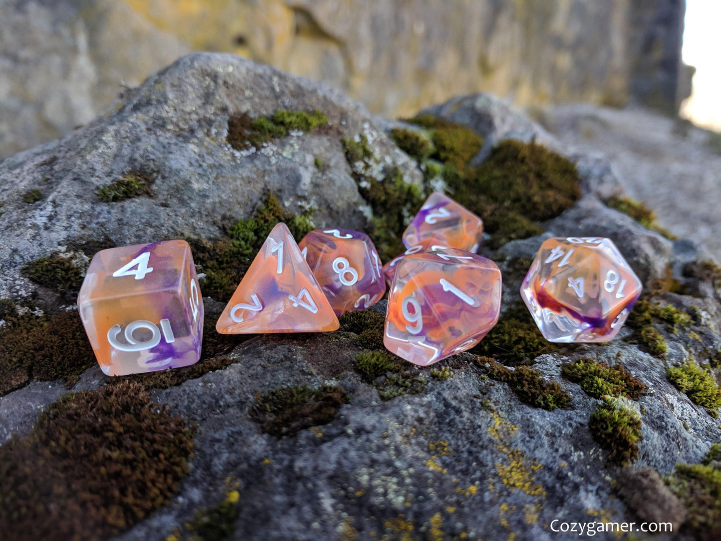
[[335,315],[362,310],[383,298],[381,260],[368,235],[350,229],[314,229],[298,243]]

